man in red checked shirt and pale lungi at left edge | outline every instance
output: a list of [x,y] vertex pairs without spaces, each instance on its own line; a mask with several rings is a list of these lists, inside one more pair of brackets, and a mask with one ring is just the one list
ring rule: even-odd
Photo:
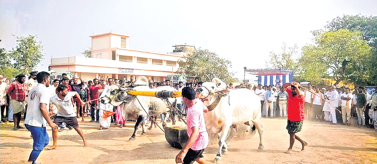
[[26,83],[25,83],[25,75],[20,74],[16,76],[16,81],[9,84],[9,89],[7,94],[10,97],[10,103],[13,107],[13,120],[14,120],[14,128],[13,130],[21,129],[20,120],[21,120],[21,113],[25,112],[26,106]]

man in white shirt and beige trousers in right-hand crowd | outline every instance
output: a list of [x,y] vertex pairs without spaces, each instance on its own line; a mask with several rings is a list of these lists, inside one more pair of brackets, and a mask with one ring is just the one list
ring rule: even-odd
[[344,90],[345,92],[343,92],[342,95],[340,95],[340,106],[342,106],[343,124],[349,125],[349,121],[351,120],[351,105],[353,95],[349,93],[349,88],[345,88]]

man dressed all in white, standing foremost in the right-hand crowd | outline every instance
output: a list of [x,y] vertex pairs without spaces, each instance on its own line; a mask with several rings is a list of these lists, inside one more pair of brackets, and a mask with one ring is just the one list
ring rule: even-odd
[[335,110],[338,105],[338,92],[335,90],[334,86],[330,86],[329,90],[325,93],[326,99],[331,103],[329,104],[327,101],[325,102],[325,105],[323,106],[323,111],[325,113],[325,120],[332,122],[332,124],[336,124],[336,115]]

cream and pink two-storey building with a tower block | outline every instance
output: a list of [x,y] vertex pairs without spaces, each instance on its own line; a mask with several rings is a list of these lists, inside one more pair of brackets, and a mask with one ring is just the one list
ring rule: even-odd
[[[157,53],[129,47],[129,35],[103,33],[92,38],[92,57],[52,58],[51,66],[57,72],[72,72],[82,79],[116,78],[135,80],[143,75],[153,81],[165,81],[168,74],[177,71],[178,59],[185,52]],[[191,46],[192,47],[192,46]]]

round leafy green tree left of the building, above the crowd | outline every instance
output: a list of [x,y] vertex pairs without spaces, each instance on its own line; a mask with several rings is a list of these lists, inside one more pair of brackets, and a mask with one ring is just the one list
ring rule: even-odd
[[11,57],[15,60],[13,68],[21,73],[27,74],[34,70],[35,66],[43,59],[43,48],[41,42],[37,42],[36,36],[16,37],[17,46],[10,51]]

